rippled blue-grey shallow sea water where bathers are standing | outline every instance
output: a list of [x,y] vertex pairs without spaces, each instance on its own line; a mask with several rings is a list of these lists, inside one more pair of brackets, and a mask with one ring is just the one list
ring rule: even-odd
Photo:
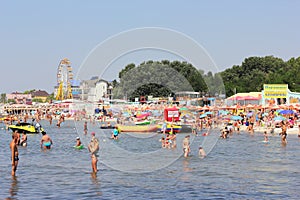
[[[0,124],[2,126],[3,124]],[[299,199],[300,140],[288,136],[282,146],[278,136],[263,144],[263,136],[246,133],[218,139],[191,137],[191,156],[178,147],[161,149],[158,134],[121,134],[88,125],[100,140],[97,176],[91,173],[87,149],[75,150],[80,136],[85,146],[83,122],[68,121],[58,129],[43,127],[53,139],[51,150],[39,148],[41,135],[28,135],[28,147],[19,147],[17,175],[10,175],[10,132],[0,130],[0,199]],[[208,156],[198,156],[202,145]]]

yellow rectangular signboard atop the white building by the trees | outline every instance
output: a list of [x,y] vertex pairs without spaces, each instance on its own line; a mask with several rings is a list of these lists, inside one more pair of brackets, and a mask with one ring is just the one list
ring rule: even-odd
[[264,98],[287,98],[287,84],[264,84]]

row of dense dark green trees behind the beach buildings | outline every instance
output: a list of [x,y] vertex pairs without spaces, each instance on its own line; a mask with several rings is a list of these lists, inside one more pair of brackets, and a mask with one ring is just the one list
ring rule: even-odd
[[197,91],[211,96],[235,92],[261,91],[263,84],[288,84],[300,91],[300,57],[284,61],[274,56],[249,57],[241,65],[222,72],[205,73],[192,64],[181,61],[147,61],[136,66],[128,64],[114,80],[114,98],[152,95],[174,96],[178,91]]

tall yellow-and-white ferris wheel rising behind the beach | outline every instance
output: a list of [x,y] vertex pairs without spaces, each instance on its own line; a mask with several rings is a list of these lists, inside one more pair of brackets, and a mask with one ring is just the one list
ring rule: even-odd
[[72,88],[71,82],[73,80],[73,70],[71,67],[71,62],[64,58],[60,61],[57,68],[57,100],[71,99],[72,98]]

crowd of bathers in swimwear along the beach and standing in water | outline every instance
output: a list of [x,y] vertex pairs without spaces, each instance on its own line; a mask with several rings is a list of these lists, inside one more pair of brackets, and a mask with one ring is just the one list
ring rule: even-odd
[[[232,116],[239,116],[238,119],[233,119]],[[278,113],[275,110],[270,110],[268,112],[264,112],[262,110],[255,110],[255,111],[249,111],[248,114],[244,113],[226,113],[219,114],[218,111],[211,112],[210,114],[205,115],[204,117],[199,117],[199,114],[194,115],[194,121],[190,123],[191,127],[191,134],[198,136],[198,133],[204,133],[203,136],[207,136],[209,134],[209,131],[212,129],[219,128],[222,126],[220,133],[220,138],[227,139],[230,135],[233,133],[240,134],[240,131],[246,131],[249,134],[254,134],[254,132],[260,128],[263,128],[263,137],[264,142],[269,142],[269,135],[274,134],[275,128],[280,128],[281,131],[279,135],[281,136],[281,142],[282,144],[287,144],[287,131],[289,128],[293,128],[298,126],[298,113],[292,113],[289,115],[286,115],[284,119],[282,120],[276,120],[276,117],[278,117]],[[54,116],[51,113],[42,113],[37,111],[33,116],[29,116],[28,114],[25,114],[23,116],[10,116],[8,121],[6,121],[6,125],[13,124],[14,121],[17,121],[17,123],[27,122],[29,119],[32,118],[33,121],[36,122],[35,125],[39,124],[40,120],[45,119],[49,121],[49,124],[52,124],[53,118],[57,119],[56,126],[60,128],[61,124],[65,120],[65,116],[62,114],[60,116]],[[89,118],[90,119],[90,118]],[[106,122],[106,120],[103,120],[103,122]],[[124,118],[121,117],[121,114],[119,113],[116,118],[116,122],[122,122],[126,123],[126,120],[132,121],[131,118]],[[162,120],[162,119],[160,119]],[[90,120],[91,122],[94,122],[94,120]],[[176,132],[171,129],[171,131],[167,132],[167,123],[162,120],[162,137],[160,139],[161,147],[166,149],[172,149],[177,148],[177,136]],[[114,140],[119,139],[120,131],[118,130],[117,126],[112,126],[109,122],[109,127],[113,127],[111,132],[111,138]],[[298,136],[300,137],[300,125],[299,127],[299,133]],[[36,126],[36,128],[39,128]],[[88,122],[85,121],[83,125],[83,133],[86,135],[88,133]],[[22,136],[21,136],[22,134]],[[190,135],[187,135],[184,137],[182,141],[182,148],[183,148],[183,156],[188,157],[191,153],[190,148]],[[10,143],[11,148],[11,160],[12,160],[12,175],[15,174],[18,161],[19,161],[19,154],[18,154],[18,146],[26,147],[28,144],[27,141],[27,135],[26,132],[20,132],[15,131],[12,134],[12,141]],[[51,149],[51,146],[53,145],[53,141],[50,138],[49,135],[46,134],[46,132],[42,132],[42,138],[40,141],[40,146],[42,149]],[[82,142],[80,138],[76,138],[76,145],[75,146],[81,146]],[[99,156],[99,141],[95,137],[95,132],[92,132],[92,139],[88,145],[88,150],[91,153],[91,165],[93,172],[97,172],[97,162],[98,162],[98,156]],[[198,149],[198,154],[201,157],[205,157],[206,153],[205,150],[200,146]]]

